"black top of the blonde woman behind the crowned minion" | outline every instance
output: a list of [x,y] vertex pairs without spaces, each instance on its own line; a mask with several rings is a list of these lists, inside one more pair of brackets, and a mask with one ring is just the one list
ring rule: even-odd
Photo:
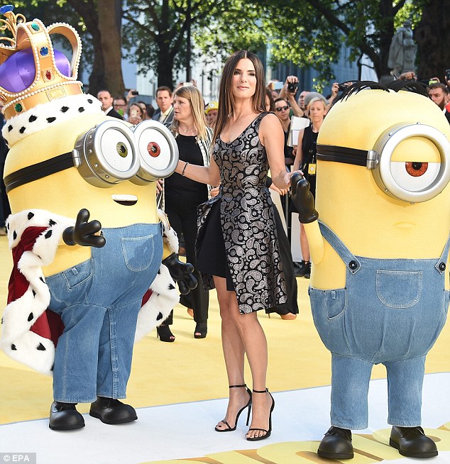
[[[177,138],[180,161],[187,161],[191,165],[203,166],[202,152],[195,136],[178,135]],[[184,204],[186,201],[200,204],[208,198],[207,184],[188,179],[177,172],[164,180],[165,203],[170,205]]]

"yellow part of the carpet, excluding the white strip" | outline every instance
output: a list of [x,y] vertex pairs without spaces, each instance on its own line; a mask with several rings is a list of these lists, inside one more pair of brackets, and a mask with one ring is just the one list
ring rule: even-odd
[[[0,302],[6,305],[11,271],[11,253],[6,237],[0,237]],[[283,321],[260,314],[268,338],[268,387],[272,392],[329,385],[330,355],[324,348],[312,322],[307,297],[309,280],[297,277],[300,315]],[[221,354],[220,318],[216,294],[210,292],[208,336],[193,337],[194,321],[183,306],[175,309],[172,331],[175,343],[163,343],[156,331],[136,344],[128,401],[134,407],[196,402],[226,397],[228,394]],[[444,327],[427,358],[427,372],[450,372],[450,326]],[[248,369],[247,369],[248,373]],[[373,379],[384,378],[383,366],[375,366]],[[251,385],[250,375],[247,375]],[[52,402],[51,378],[33,372],[0,353],[0,424],[41,419],[48,416]],[[80,404],[86,412],[88,404]]]

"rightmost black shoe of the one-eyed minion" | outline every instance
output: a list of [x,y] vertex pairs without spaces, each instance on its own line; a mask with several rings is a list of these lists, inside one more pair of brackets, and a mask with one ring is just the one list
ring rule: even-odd
[[422,427],[397,427],[390,431],[390,446],[407,458],[433,458],[437,456],[436,443],[427,437]]

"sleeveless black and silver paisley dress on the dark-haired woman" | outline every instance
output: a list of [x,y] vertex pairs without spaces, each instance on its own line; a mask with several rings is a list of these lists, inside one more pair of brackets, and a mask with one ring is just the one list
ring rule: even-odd
[[262,113],[231,143],[217,137],[213,158],[220,171],[217,197],[199,205],[197,266],[205,289],[213,275],[226,277],[241,314],[287,302],[273,203],[268,187],[268,159],[260,143]]

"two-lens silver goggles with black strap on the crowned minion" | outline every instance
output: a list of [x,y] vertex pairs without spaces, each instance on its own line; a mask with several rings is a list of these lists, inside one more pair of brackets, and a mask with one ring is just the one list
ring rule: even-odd
[[12,172],[4,182],[10,192],[77,167],[83,179],[95,187],[112,187],[124,180],[146,185],[170,176],[177,162],[177,144],[163,124],[146,120],[130,128],[119,119],[109,119],[80,135],[71,152]]

